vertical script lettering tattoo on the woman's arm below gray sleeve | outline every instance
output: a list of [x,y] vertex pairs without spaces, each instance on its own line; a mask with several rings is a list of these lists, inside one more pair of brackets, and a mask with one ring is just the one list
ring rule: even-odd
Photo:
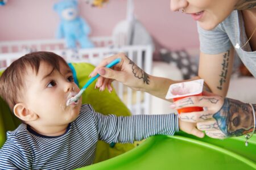
[[219,90],[222,90],[224,83],[226,82],[226,76],[228,75],[228,66],[229,66],[229,50],[223,55],[223,62],[222,62],[222,70],[220,73],[220,84],[217,86]]

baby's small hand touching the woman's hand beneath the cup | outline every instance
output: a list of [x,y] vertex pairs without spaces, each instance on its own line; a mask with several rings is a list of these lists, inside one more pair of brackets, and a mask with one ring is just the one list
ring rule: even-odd
[[196,123],[184,122],[179,119],[179,129],[185,133],[195,135],[196,137],[203,138],[204,133],[196,128]]

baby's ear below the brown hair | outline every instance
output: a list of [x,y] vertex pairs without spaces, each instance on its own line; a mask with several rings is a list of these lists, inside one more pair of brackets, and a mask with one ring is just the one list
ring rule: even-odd
[[35,121],[38,119],[38,115],[27,109],[24,103],[15,104],[13,112],[16,117],[25,122]]

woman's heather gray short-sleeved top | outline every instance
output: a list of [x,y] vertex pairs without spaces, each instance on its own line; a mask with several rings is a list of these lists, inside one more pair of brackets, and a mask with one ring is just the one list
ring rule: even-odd
[[[256,21],[255,21],[256,22]],[[207,31],[197,24],[200,50],[205,54],[226,52],[232,46],[243,46],[247,39],[241,11],[234,10],[228,18],[214,29]],[[235,48],[243,64],[256,78],[256,51],[252,52],[249,42],[243,48]]]

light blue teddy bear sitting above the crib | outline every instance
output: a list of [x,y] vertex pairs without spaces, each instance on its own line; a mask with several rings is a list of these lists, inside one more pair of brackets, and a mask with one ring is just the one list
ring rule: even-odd
[[90,27],[79,16],[77,0],[61,0],[54,5],[54,10],[60,16],[60,24],[56,32],[58,39],[65,38],[68,48],[92,48],[94,45],[89,40]]

